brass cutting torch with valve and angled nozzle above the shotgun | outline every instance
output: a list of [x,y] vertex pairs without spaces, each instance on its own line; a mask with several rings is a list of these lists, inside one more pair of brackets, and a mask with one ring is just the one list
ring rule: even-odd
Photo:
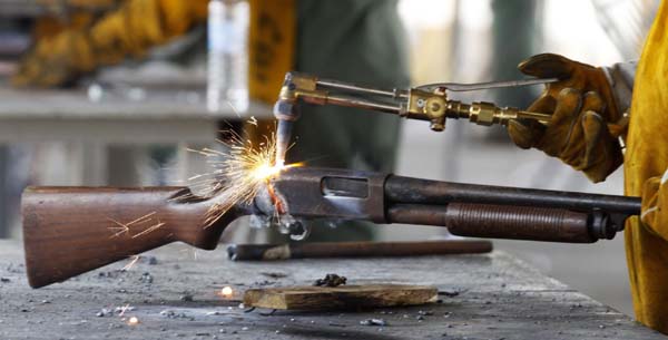
[[525,79],[479,84],[439,82],[410,89],[381,89],[313,75],[287,72],[274,106],[277,126],[277,163],[283,162],[289,144],[292,126],[298,119],[299,100],[315,105],[337,105],[395,114],[410,119],[429,120],[432,130],[445,129],[446,118],[464,118],[478,125],[507,125],[510,119],[534,119],[548,124],[551,116],[499,107],[492,103],[464,104],[448,99],[448,91],[471,91],[558,81],[559,79]]

